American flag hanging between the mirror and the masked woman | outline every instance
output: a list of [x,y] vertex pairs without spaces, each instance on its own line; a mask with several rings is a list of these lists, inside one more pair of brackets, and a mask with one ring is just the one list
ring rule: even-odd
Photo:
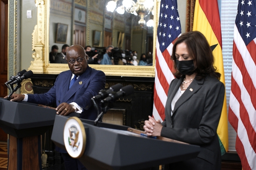
[[154,87],[153,116],[164,121],[164,108],[171,81],[173,62],[170,59],[175,40],[181,34],[177,0],[161,0],[156,40],[156,76]]

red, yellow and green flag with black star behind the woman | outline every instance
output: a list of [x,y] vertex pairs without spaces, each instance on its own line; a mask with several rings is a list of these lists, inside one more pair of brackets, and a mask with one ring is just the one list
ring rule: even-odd
[[[225,85],[222,58],[222,40],[220,14],[217,0],[196,0],[193,31],[200,31],[206,37],[212,48],[214,66],[221,74],[220,81]],[[226,94],[223,102],[220,122],[217,128],[221,155],[228,151],[228,116]]]

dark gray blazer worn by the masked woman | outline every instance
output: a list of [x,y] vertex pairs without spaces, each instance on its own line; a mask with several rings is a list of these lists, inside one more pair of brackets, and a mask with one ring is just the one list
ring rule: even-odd
[[171,102],[184,79],[172,80],[165,106],[161,136],[201,146],[196,159],[171,164],[172,169],[207,169],[221,167],[217,127],[223,106],[225,86],[217,78],[194,79],[177,100],[171,116]]

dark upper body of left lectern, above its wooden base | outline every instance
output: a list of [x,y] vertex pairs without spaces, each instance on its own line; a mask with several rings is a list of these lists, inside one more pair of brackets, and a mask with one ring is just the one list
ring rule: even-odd
[[[39,107],[35,103],[13,102],[0,98],[0,127],[14,137],[29,137],[43,134],[53,125],[56,110]],[[79,117],[72,113],[70,116]]]

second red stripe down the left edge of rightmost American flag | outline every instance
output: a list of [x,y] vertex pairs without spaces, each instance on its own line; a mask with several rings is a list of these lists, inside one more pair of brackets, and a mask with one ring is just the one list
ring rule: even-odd
[[237,82],[233,78],[233,76],[231,76],[231,82],[232,82],[231,91],[234,94],[234,96],[236,97],[236,99],[240,105],[239,112],[240,112],[241,121],[243,122],[244,127],[246,129],[247,136],[249,138],[252,149],[256,153],[256,142],[254,142],[254,140],[256,139],[256,132],[254,131],[254,129],[252,127],[248,112],[247,112],[246,108],[244,107],[244,103],[242,102],[241,90],[240,90]]

